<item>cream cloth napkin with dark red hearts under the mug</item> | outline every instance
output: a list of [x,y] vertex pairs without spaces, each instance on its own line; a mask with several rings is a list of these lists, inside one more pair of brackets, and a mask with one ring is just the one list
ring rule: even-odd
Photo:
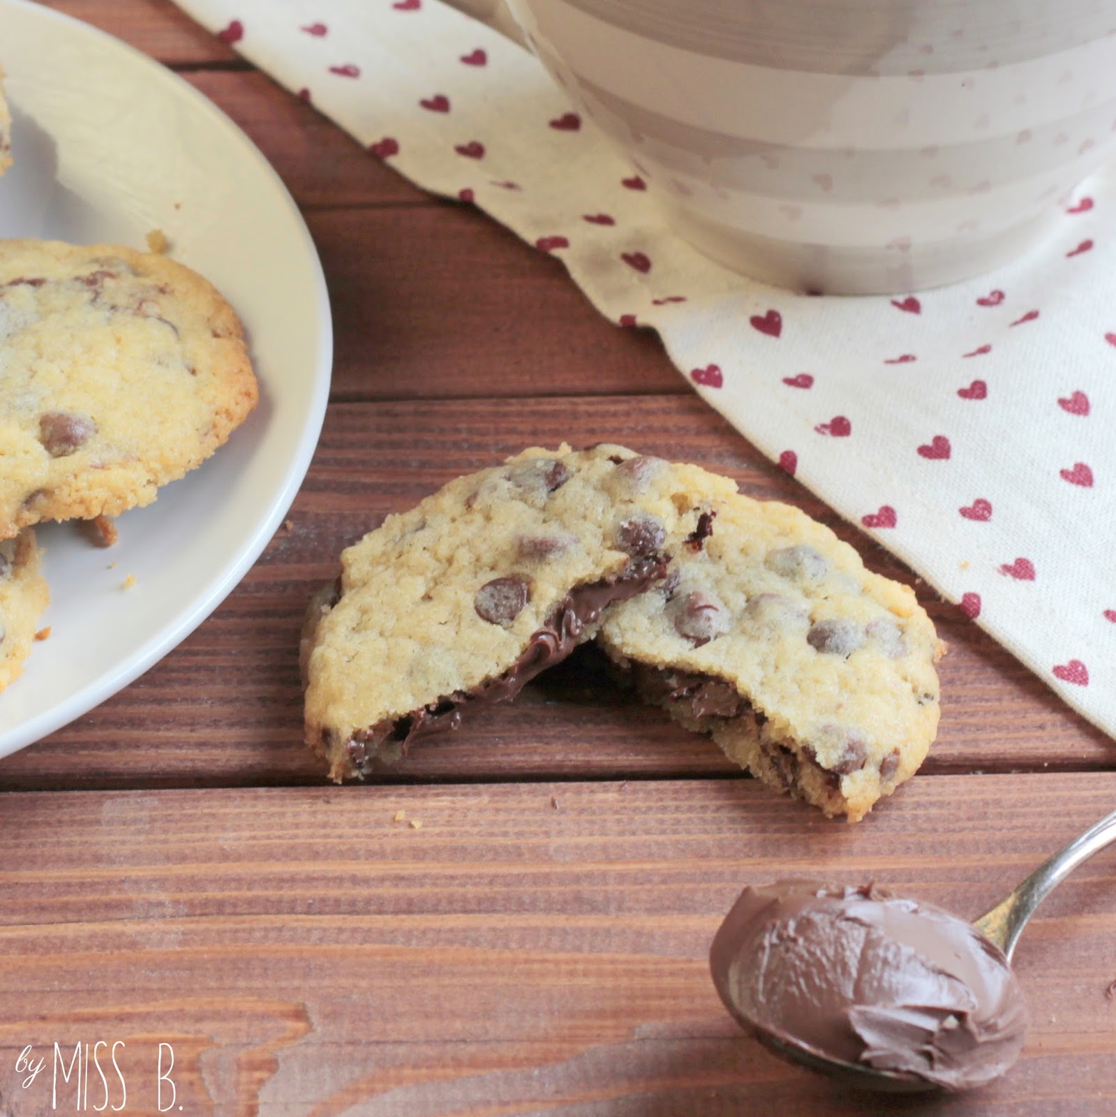
[[179,3],[373,155],[561,258],[613,322],[657,330],[750,441],[1116,735],[1110,174],[986,278],[810,298],[678,240],[542,66],[439,0]]

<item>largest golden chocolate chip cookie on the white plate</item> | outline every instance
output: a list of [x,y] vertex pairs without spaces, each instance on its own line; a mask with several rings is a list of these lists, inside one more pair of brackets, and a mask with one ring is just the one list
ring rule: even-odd
[[0,241],[0,538],[150,504],[256,404],[225,299],[130,248]]

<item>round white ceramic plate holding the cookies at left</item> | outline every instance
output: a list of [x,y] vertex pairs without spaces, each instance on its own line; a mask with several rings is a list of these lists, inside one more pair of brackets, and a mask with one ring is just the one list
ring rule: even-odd
[[309,466],[333,336],[297,208],[210,102],[131,47],[23,0],[0,0],[0,63],[16,159],[0,178],[0,237],[142,249],[162,229],[173,257],[240,314],[260,381],[245,426],[154,505],[122,516],[115,547],[89,546],[71,525],[41,527],[51,634],[0,694],[6,756],[126,686],[240,581]]

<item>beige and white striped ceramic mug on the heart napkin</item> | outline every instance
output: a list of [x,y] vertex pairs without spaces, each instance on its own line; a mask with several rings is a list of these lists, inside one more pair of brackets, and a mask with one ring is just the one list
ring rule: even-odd
[[683,237],[798,290],[998,267],[1116,147],[1110,0],[507,3]]

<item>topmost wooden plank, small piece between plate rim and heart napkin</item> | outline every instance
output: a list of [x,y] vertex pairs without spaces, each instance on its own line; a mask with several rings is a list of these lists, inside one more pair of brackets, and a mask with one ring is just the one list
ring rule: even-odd
[[42,0],[42,3],[107,31],[169,66],[237,60],[231,47],[195,23],[171,0]]

